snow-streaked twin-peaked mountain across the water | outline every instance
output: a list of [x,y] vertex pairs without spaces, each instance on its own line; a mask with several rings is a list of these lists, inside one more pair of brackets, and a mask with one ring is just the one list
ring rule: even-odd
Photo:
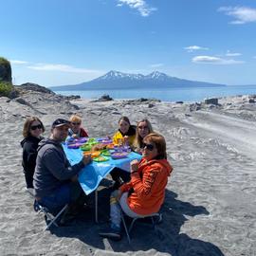
[[170,87],[217,87],[225,84],[197,82],[170,77],[158,71],[149,75],[127,74],[111,70],[105,75],[89,82],[73,85],[52,86],[54,91],[81,91],[81,90],[113,90],[113,89],[149,89]]

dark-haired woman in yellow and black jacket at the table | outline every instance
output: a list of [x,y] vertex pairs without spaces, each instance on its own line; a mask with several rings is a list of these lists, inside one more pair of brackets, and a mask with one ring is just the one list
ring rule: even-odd
[[130,120],[127,117],[121,117],[119,119],[119,131],[113,137],[114,144],[120,144],[121,142],[128,142],[129,146],[134,143],[136,136],[136,128],[131,125]]

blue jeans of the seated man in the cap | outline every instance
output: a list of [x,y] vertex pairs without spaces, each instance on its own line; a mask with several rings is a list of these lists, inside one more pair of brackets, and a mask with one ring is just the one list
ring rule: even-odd
[[62,210],[64,205],[71,202],[71,184],[64,184],[50,195],[44,196],[39,203],[53,214]]

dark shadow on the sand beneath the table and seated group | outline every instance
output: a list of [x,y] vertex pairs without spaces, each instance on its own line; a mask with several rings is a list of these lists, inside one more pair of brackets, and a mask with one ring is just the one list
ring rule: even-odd
[[[84,210],[78,217],[77,223],[70,227],[51,229],[51,232],[59,237],[72,237],[86,244],[81,248],[81,253],[93,252],[95,249],[107,249],[106,245],[114,252],[126,251],[155,251],[168,253],[173,256],[221,256],[221,250],[199,239],[192,239],[185,233],[180,233],[182,225],[188,220],[185,215],[195,216],[198,214],[209,214],[209,211],[202,206],[193,206],[191,203],[177,200],[177,194],[166,191],[166,200],[162,209],[163,222],[156,226],[157,234],[152,225],[136,223],[131,232],[131,244],[128,244],[125,233],[119,242],[103,241],[98,232],[108,226],[109,218],[109,190],[103,189],[99,192],[99,219],[100,223],[94,222],[94,198],[90,196],[91,207]],[[154,252],[153,252],[154,254]]]

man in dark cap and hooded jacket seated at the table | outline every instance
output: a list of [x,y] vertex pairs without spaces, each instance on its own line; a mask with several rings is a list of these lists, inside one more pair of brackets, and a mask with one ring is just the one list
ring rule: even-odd
[[77,180],[82,168],[91,162],[90,156],[82,156],[79,163],[71,166],[64,154],[62,142],[68,134],[70,122],[56,119],[51,135],[40,141],[34,178],[35,198],[52,213],[69,204],[69,210],[84,204],[84,192]]

